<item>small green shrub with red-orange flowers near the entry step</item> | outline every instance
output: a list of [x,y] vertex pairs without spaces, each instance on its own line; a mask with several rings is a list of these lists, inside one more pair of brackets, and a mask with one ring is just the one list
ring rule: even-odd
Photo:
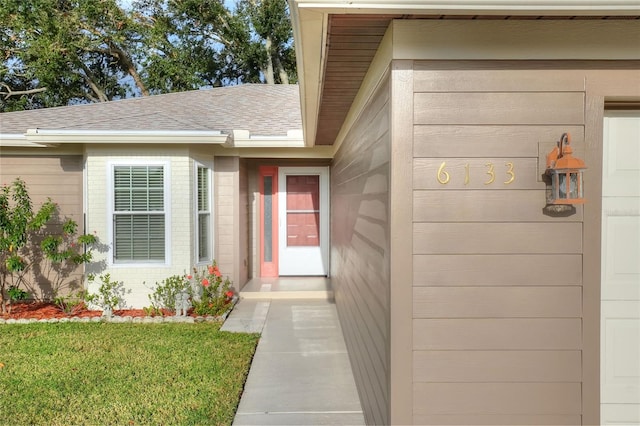
[[221,315],[229,309],[229,303],[234,293],[231,290],[231,281],[222,278],[216,261],[207,266],[203,271],[193,269],[196,294],[193,300],[193,312],[196,315]]

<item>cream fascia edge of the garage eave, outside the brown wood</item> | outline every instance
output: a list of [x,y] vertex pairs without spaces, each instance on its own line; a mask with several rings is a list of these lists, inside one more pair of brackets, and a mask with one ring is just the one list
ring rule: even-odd
[[637,0],[288,0],[296,47],[302,126],[314,146],[330,14],[634,16]]

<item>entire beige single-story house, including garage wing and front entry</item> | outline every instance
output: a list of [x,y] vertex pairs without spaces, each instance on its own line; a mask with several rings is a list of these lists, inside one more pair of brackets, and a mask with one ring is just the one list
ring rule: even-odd
[[[3,179],[20,156],[75,156],[79,211],[131,303],[206,254],[238,289],[330,276],[369,424],[640,422],[637,2],[290,9],[299,98],[214,89],[140,133],[155,113],[22,122],[2,131]],[[204,105],[220,109],[194,125]],[[229,111],[253,120],[216,122]],[[586,203],[557,214],[544,174],[564,133]]]

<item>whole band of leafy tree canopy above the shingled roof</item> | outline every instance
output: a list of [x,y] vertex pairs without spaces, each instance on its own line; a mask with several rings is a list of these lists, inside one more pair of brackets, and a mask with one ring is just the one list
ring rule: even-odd
[[0,0],[0,111],[292,83],[286,0]]

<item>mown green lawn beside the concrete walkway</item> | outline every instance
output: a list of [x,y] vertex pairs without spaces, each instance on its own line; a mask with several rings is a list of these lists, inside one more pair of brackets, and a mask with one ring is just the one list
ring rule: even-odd
[[258,342],[216,323],[0,327],[0,424],[231,424]]

